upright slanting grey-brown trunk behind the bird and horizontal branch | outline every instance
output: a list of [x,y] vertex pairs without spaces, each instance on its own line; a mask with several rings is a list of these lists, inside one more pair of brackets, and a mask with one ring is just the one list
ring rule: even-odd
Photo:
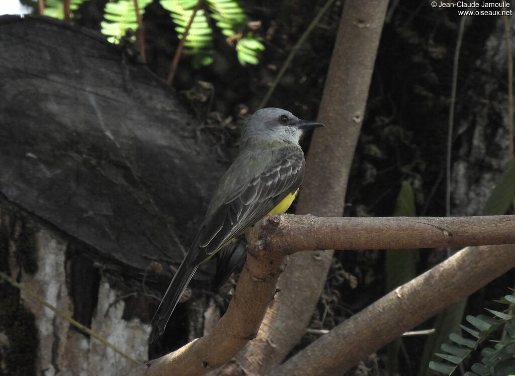
[[[344,212],[387,5],[386,0],[345,2],[318,116],[326,127],[313,135],[297,214]],[[332,254],[327,250],[290,257],[279,280],[281,292],[267,311],[258,338],[236,357],[243,373],[270,370],[298,343],[320,297]]]

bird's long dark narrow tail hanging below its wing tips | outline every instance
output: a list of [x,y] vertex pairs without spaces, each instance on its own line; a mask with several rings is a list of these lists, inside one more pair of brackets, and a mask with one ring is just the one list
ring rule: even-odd
[[170,285],[159,304],[156,314],[152,318],[152,322],[156,323],[158,330],[157,333],[152,336],[151,342],[155,341],[164,333],[166,324],[168,323],[171,314],[174,312],[175,306],[179,302],[186,286],[190,283],[195,271],[197,271],[198,264],[194,262],[192,263],[188,255],[182,262],[181,266],[179,266],[179,269],[177,269],[174,278],[171,280]]

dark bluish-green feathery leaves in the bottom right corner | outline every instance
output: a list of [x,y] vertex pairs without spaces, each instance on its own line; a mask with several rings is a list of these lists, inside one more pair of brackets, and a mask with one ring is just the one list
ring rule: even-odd
[[[512,304],[515,302],[515,294],[507,295],[499,302],[503,304]],[[481,363],[474,363],[471,371],[465,373],[465,376],[497,376],[508,374],[507,370],[513,370],[515,365],[515,317],[511,310],[509,313],[488,310],[494,317],[486,315],[467,316],[466,320],[472,324],[475,329],[461,325],[467,333],[475,339],[467,339],[458,334],[449,335],[456,345],[443,344],[441,350],[444,353],[435,354],[443,360],[452,363],[430,362],[429,368],[437,372],[452,374],[461,362],[474,351],[477,346],[486,340],[494,331],[505,326],[508,335],[507,339],[500,341],[492,341],[494,347],[486,347],[482,350]]]

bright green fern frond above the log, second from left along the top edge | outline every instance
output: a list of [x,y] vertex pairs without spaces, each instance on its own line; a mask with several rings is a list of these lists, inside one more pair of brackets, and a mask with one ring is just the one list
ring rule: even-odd
[[[143,9],[151,2],[152,0],[138,0],[140,12],[143,13]],[[134,0],[119,0],[116,3],[107,3],[104,8],[104,18],[107,21],[100,23],[101,31],[111,43],[121,40],[128,29],[138,29]]]

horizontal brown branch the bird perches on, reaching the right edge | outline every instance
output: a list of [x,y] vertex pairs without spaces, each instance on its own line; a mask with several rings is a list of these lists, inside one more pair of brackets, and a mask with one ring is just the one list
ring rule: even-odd
[[[465,247],[515,243],[515,216],[331,218],[284,214],[255,228],[267,248],[290,254],[321,249]],[[268,228],[269,227],[269,228]]]

